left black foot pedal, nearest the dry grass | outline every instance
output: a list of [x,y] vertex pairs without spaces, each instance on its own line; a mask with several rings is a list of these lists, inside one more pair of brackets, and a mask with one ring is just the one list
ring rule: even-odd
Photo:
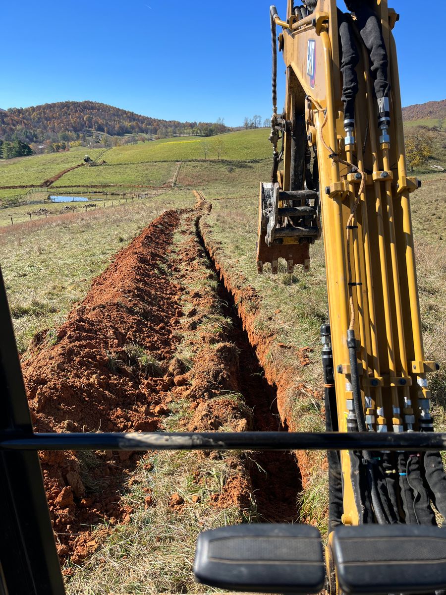
[[203,531],[197,581],[254,593],[318,593],[325,580],[321,534],[309,525],[253,524]]

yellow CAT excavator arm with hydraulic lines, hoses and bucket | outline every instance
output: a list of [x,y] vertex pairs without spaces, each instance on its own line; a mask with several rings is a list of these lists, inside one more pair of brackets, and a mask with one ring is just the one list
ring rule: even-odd
[[[406,171],[392,36],[398,15],[387,0],[346,4],[352,14],[336,0],[299,7],[288,0],[286,20],[271,7],[274,167],[260,185],[257,270],[271,263],[277,273],[279,258],[288,273],[299,264],[308,270],[322,228],[327,430],[429,432],[426,373],[436,364],[423,351],[410,215],[420,182]],[[276,40],[287,68],[282,114]],[[349,76],[357,77],[353,92]],[[431,503],[446,514],[446,479],[438,452],[344,450],[328,458],[327,571],[335,592],[335,527],[436,525]]]

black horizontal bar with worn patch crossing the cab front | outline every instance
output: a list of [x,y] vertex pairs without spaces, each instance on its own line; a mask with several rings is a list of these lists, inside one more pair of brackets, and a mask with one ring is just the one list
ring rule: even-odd
[[0,450],[446,450],[434,432],[97,433],[0,436]]

